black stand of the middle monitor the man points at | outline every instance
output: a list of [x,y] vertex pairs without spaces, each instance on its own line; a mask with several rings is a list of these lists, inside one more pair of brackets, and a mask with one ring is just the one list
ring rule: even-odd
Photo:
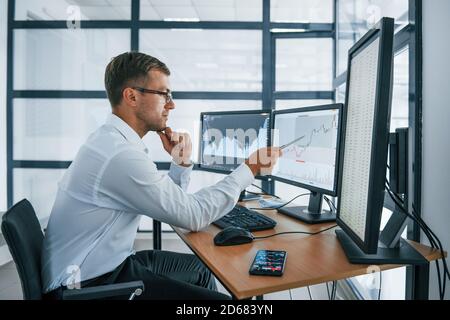
[[307,207],[283,207],[278,209],[278,212],[309,224],[336,221],[335,213],[328,210],[322,210],[322,200],[323,194],[313,192],[309,197],[309,205]]

